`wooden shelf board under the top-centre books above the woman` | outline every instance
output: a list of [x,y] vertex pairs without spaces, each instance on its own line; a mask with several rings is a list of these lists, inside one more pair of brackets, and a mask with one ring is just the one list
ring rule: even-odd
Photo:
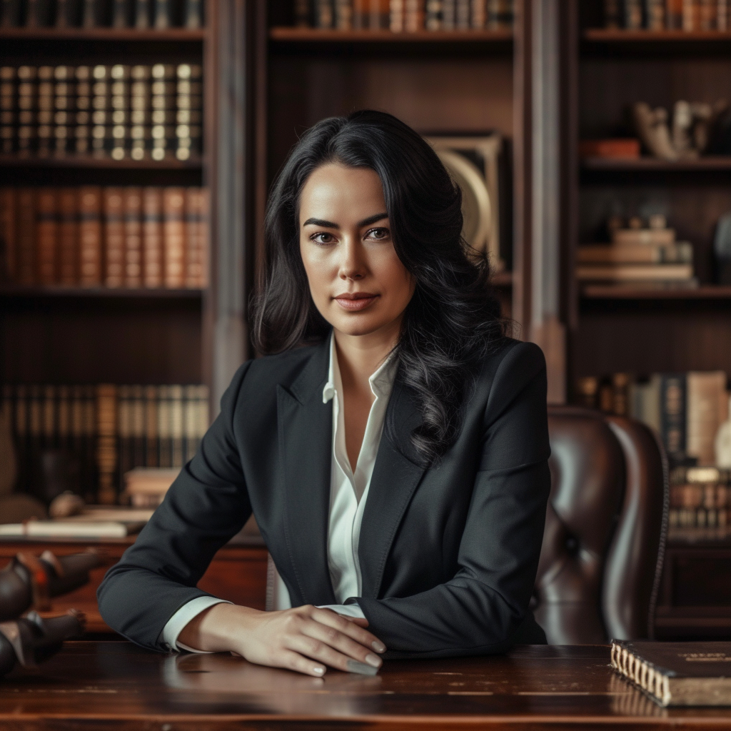
[[339,31],[314,28],[289,28],[279,26],[269,30],[269,39],[282,44],[300,43],[387,43],[387,44],[441,44],[441,43],[485,43],[510,44],[512,31],[414,31],[394,33],[393,31]]

